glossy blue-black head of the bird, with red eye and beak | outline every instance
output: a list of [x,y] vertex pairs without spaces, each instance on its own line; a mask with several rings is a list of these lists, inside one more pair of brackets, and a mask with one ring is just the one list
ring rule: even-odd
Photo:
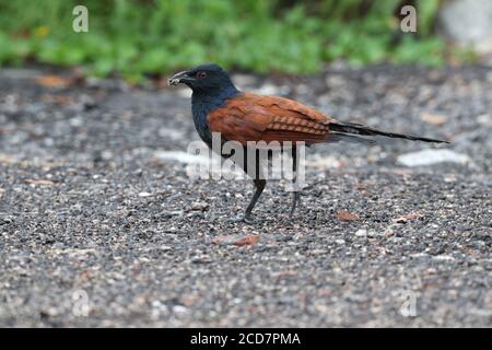
[[200,65],[189,70],[174,74],[168,80],[169,85],[179,83],[187,85],[197,93],[220,93],[236,90],[227,72],[215,63]]

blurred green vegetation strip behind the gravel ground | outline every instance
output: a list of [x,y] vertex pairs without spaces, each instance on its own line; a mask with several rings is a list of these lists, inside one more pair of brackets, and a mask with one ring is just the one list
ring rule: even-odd
[[[400,31],[398,0],[0,0],[0,65],[34,59],[134,80],[204,61],[289,73],[335,59],[442,65],[438,0],[411,2],[418,35]],[[89,9],[89,33],[72,31],[77,4]]]

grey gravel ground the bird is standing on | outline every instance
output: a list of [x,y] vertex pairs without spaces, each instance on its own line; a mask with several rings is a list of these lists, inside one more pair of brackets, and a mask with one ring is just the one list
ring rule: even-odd
[[295,220],[270,183],[251,225],[250,182],[187,176],[185,90],[52,73],[0,70],[0,326],[492,326],[492,69],[234,75],[452,141],[316,147]]

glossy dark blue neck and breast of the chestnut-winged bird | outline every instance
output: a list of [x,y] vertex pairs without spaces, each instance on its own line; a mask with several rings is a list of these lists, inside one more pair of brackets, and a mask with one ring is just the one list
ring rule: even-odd
[[241,92],[234,86],[216,91],[194,91],[191,95],[191,112],[194,115],[195,127],[200,138],[209,145],[212,143],[212,135],[207,125],[207,116],[221,107],[227,98],[231,98]]

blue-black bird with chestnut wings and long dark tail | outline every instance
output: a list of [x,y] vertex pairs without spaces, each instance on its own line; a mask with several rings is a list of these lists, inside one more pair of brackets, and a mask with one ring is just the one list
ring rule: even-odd
[[[168,79],[169,85],[184,84],[191,89],[191,114],[201,140],[212,148],[212,135],[220,133],[221,142],[235,141],[244,148],[238,165],[253,178],[255,192],[239,219],[255,222],[253,209],[267,180],[261,174],[260,158],[248,159],[248,142],[290,144],[293,172],[297,173],[297,144],[352,141],[371,143],[367,138],[388,137],[411,141],[449,143],[445,140],[378,130],[362,124],[341,121],[300,102],[280,96],[266,96],[238,90],[230,74],[216,63],[203,63],[180,71]],[[258,155],[258,153],[254,153]],[[222,153],[225,159],[231,154]],[[300,190],[293,190],[290,218],[300,201]]]

